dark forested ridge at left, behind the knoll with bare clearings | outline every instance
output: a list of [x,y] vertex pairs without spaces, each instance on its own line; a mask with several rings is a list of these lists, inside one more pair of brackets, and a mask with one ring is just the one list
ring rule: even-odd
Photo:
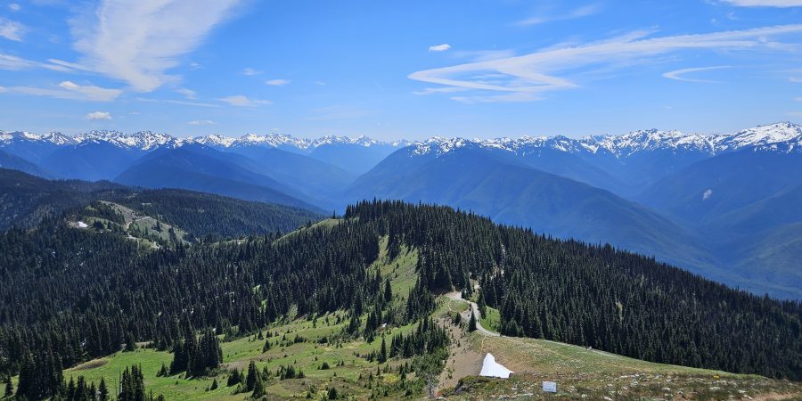
[[321,215],[307,209],[211,193],[147,190],[109,182],[48,181],[0,168],[0,229],[29,227],[94,201],[111,201],[177,225],[196,237],[286,233]]

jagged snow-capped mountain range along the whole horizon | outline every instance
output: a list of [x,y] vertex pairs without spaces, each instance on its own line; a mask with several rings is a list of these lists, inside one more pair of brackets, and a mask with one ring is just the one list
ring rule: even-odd
[[753,127],[732,134],[683,134],[679,131],[660,131],[657,129],[638,130],[624,135],[590,135],[574,139],[566,136],[523,136],[518,139],[501,137],[495,139],[464,139],[434,136],[425,141],[399,140],[381,142],[367,136],[349,138],[327,135],[317,139],[297,138],[286,134],[255,135],[241,137],[207,135],[191,138],[151,131],[126,134],[119,131],[90,131],[85,134],[69,136],[58,132],[44,135],[23,131],[0,131],[0,147],[16,141],[52,143],[57,146],[78,145],[82,143],[112,143],[122,148],[151,151],[162,147],[179,147],[188,143],[201,143],[217,149],[245,146],[265,146],[273,148],[294,148],[299,151],[313,151],[323,145],[357,145],[364,147],[389,146],[403,148],[413,146],[411,154],[446,154],[464,146],[479,146],[487,149],[511,151],[520,156],[543,150],[565,151],[569,153],[609,154],[616,158],[626,158],[642,151],[696,151],[716,155],[726,151],[753,148],[756,151],[798,152],[802,151],[802,126],[790,122],[780,122]]

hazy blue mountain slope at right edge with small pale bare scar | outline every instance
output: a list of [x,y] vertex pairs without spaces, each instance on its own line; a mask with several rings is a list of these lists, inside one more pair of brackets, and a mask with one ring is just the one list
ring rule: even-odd
[[800,153],[725,153],[665,177],[642,200],[699,232],[741,287],[800,299],[800,171]]

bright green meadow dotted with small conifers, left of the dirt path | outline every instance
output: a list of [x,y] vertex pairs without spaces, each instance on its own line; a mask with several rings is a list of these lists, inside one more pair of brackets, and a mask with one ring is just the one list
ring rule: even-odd
[[[318,225],[331,225],[337,220],[325,220]],[[290,233],[288,235],[293,235]],[[412,288],[415,272],[414,266],[417,252],[404,248],[401,255],[393,260],[387,258],[387,238],[381,241],[380,258],[369,267],[372,272],[380,272],[389,278],[394,294],[394,302],[403,305],[407,293]],[[233,394],[236,387],[227,387],[228,372],[233,369],[247,369],[250,361],[254,361],[259,370],[269,369],[275,371],[281,366],[292,365],[305,374],[303,379],[280,380],[275,378],[266,387],[271,395],[270,399],[304,398],[312,394],[314,399],[320,399],[330,387],[338,389],[340,394],[350,399],[364,399],[371,397],[374,390],[378,396],[384,397],[384,389],[388,389],[388,397],[403,399],[406,390],[399,389],[402,379],[396,372],[381,372],[377,369],[386,366],[396,367],[401,364],[410,364],[411,359],[394,359],[389,364],[378,364],[366,360],[363,356],[378,351],[381,340],[372,343],[364,340],[337,340],[346,328],[347,315],[340,311],[332,314],[319,315],[309,319],[281,321],[271,324],[260,331],[259,335],[251,335],[241,339],[226,340],[221,344],[224,364],[214,376],[201,379],[187,379],[184,374],[169,377],[157,377],[161,365],[169,365],[172,354],[166,351],[157,351],[152,348],[140,348],[134,352],[119,352],[112,356],[94,359],[64,371],[64,377],[77,378],[82,375],[87,381],[99,382],[101,378],[110,384],[117,381],[119,373],[132,364],[141,364],[143,367],[145,386],[152,389],[153,394],[161,394],[167,399],[186,400],[217,400],[217,399],[246,399],[250,393]],[[398,333],[413,331],[416,323],[399,327],[386,327],[382,334],[388,339]],[[304,339],[296,342],[296,338]],[[326,339],[326,340],[323,340]],[[263,351],[265,341],[272,344],[272,348]],[[329,368],[321,369],[323,363]],[[414,373],[405,381],[413,382]],[[212,382],[217,380],[218,389],[209,389]],[[414,394],[421,394],[420,385],[412,386]]]

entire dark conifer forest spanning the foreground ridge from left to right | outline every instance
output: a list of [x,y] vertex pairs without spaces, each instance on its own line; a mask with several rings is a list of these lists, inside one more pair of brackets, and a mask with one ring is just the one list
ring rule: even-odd
[[[282,315],[348,311],[346,332],[415,322],[433,292],[479,282],[502,331],[656,362],[800,379],[802,307],[758,298],[651,258],[555,241],[445,207],[370,202],[339,224],[274,241],[142,250],[126,238],[48,219],[0,237],[0,369],[27,353],[69,366],[126,339],[169,347],[187,332],[253,332]],[[417,251],[417,283],[389,307],[379,255]],[[80,289],[78,291],[78,288]],[[367,316],[366,320],[363,320]],[[36,333],[36,335],[34,335]]]

